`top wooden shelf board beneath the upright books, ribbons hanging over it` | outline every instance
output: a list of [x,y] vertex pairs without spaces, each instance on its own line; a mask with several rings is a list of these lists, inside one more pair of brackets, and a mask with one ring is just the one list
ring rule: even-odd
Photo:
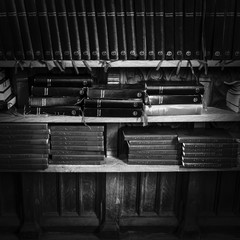
[[[73,61],[58,61],[64,67],[73,67]],[[98,60],[88,60],[82,61],[77,60],[74,61],[76,67],[86,67],[86,64],[89,67],[104,67],[109,64],[110,67],[157,67],[160,63],[160,60],[118,60],[118,61],[98,61]],[[46,64],[50,67],[56,67],[55,61],[0,61],[0,67],[46,67]],[[179,60],[172,61],[162,61],[161,67],[177,67],[179,64]],[[199,67],[201,65],[198,60],[191,60],[191,64],[193,67]],[[207,61],[208,67],[239,67],[240,61],[226,61],[225,63],[216,60]],[[189,62],[187,60],[183,60],[181,62],[181,67],[188,67]]]

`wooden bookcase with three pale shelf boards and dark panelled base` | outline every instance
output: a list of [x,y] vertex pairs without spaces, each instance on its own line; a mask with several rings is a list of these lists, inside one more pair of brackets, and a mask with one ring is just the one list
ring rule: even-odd
[[[163,61],[176,67],[179,61]],[[159,61],[114,61],[111,67],[157,67]],[[199,67],[198,61],[191,61]],[[54,63],[50,61],[48,64]],[[65,61],[72,67],[71,61]],[[83,61],[75,62],[85,67]],[[99,61],[87,61],[102,67]],[[23,67],[46,67],[24,61]],[[209,61],[210,67],[221,67]],[[15,61],[0,61],[11,68]],[[182,62],[183,67],[188,61]],[[237,67],[240,62],[226,66]],[[141,118],[92,118],[0,114],[1,123],[104,124],[107,151],[116,151],[116,135],[124,124],[142,125]],[[201,115],[149,117],[148,123],[240,122],[240,114],[208,107]],[[113,143],[115,141],[115,143]],[[108,149],[109,148],[109,149]],[[109,154],[111,155],[111,154]],[[240,167],[186,169],[181,166],[127,165],[115,154],[97,166],[50,165],[43,171],[1,170],[1,233],[21,239],[39,239],[48,232],[97,232],[99,238],[116,239],[124,231],[157,231],[169,236],[199,237],[206,232],[240,232]],[[231,231],[231,232],[230,232]],[[4,238],[3,238],[4,239]],[[163,238],[164,239],[164,238]]]

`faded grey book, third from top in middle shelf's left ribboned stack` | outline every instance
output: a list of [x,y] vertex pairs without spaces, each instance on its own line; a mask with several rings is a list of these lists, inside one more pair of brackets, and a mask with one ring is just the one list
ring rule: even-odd
[[78,102],[78,97],[29,97],[31,107],[68,106]]

